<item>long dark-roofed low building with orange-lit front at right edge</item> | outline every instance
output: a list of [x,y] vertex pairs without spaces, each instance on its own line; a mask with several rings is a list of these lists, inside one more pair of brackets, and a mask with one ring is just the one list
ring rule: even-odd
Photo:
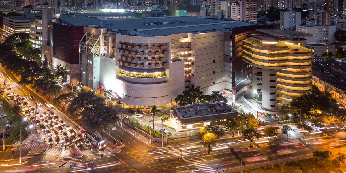
[[346,106],[346,62],[333,58],[312,59],[312,83]]

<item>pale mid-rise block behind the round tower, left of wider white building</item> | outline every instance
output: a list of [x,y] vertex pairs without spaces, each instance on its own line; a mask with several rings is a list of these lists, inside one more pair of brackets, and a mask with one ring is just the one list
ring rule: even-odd
[[301,12],[289,9],[280,11],[280,29],[292,29],[301,24]]

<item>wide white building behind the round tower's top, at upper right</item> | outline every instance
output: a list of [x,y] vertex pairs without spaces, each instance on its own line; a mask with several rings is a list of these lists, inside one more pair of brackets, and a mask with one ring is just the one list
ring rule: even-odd
[[312,37],[307,37],[307,44],[321,42],[336,42],[334,33],[335,25],[297,25],[297,31],[307,34],[312,34]]

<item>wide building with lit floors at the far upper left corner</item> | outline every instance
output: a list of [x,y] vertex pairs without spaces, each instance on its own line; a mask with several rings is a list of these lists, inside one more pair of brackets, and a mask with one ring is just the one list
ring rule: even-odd
[[3,27],[5,37],[15,33],[29,33],[30,19],[24,17],[3,17]]

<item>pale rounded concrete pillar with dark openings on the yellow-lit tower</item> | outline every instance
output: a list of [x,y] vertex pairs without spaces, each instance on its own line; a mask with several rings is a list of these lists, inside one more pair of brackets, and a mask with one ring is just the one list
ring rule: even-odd
[[277,107],[277,74],[276,70],[262,69],[262,107]]

